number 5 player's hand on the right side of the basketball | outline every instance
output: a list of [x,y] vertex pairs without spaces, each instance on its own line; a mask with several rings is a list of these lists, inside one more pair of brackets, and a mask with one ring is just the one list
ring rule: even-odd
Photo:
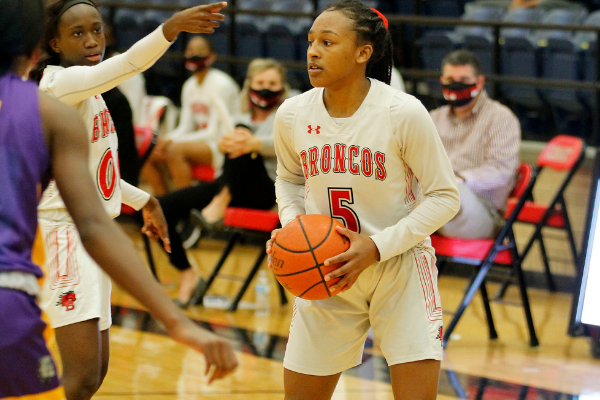
[[379,249],[368,236],[353,232],[343,226],[337,226],[336,229],[340,235],[346,236],[350,240],[350,248],[342,254],[325,260],[325,265],[345,262],[343,266],[327,274],[325,280],[341,278],[339,282],[331,286],[330,290],[345,292],[354,285],[358,276],[369,265],[379,260]]

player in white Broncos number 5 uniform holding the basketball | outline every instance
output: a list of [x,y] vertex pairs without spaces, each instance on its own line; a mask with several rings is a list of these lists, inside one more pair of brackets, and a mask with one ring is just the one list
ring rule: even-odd
[[331,398],[341,372],[360,364],[369,327],[394,397],[436,398],[442,308],[429,235],[455,215],[459,197],[427,110],[389,86],[391,48],[378,11],[354,0],[330,6],[308,33],[315,89],[285,101],[275,118],[282,225],[329,215],[351,243],[326,261],[344,263],[325,278],[340,277],[331,289],[341,293],[295,300],[288,400]]

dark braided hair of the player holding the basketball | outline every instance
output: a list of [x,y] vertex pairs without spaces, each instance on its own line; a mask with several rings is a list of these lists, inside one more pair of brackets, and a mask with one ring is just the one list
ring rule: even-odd
[[354,21],[354,31],[359,43],[370,43],[373,54],[367,63],[367,77],[385,82],[392,78],[392,37],[383,20],[375,11],[357,0],[342,0],[328,6],[325,11],[341,11]]

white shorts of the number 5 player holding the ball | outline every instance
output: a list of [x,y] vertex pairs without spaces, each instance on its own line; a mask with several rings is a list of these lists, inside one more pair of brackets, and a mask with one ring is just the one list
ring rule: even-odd
[[442,307],[431,247],[371,265],[345,293],[316,301],[296,298],[283,366],[318,376],[355,367],[370,326],[388,365],[442,359]]

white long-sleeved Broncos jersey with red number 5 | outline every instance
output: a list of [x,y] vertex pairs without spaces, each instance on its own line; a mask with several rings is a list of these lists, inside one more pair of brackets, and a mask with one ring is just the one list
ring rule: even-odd
[[[381,261],[426,240],[458,210],[448,157],[427,110],[371,79],[338,126],[316,88],[284,102],[275,122],[277,199],[285,225],[325,214],[369,235]],[[301,190],[304,189],[302,200]]]

